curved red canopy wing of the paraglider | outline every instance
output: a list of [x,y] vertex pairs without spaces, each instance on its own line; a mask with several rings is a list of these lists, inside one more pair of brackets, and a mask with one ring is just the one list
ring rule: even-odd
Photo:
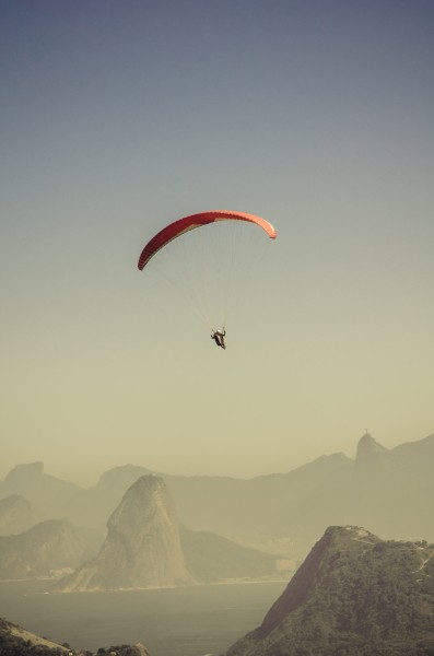
[[202,225],[208,225],[209,223],[214,223],[214,221],[248,221],[249,223],[256,223],[262,230],[266,231],[268,236],[271,239],[275,239],[277,233],[271,223],[261,219],[260,216],[255,216],[255,214],[246,214],[245,212],[231,212],[227,210],[221,211],[211,211],[211,212],[199,212],[199,214],[191,214],[190,216],[184,216],[184,219],[178,219],[178,221],[174,221],[166,227],[163,227],[143,248],[138,267],[142,270],[149,262],[149,260],[157,253],[161,248],[163,248],[166,244],[179,237],[184,233],[189,230],[193,230],[195,227],[201,227]]

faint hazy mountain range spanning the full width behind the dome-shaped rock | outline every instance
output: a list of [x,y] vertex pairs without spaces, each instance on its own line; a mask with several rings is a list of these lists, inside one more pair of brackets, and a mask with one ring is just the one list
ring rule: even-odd
[[[32,476],[24,485],[26,467]],[[102,530],[128,487],[150,473],[140,466],[117,467],[83,490],[71,483],[62,487],[38,467],[12,470],[0,483],[0,496],[12,489],[25,495],[27,490],[32,500],[46,499],[46,505],[38,505],[44,512],[50,508],[49,516]],[[434,435],[387,449],[366,433],[355,460],[343,454],[320,456],[288,473],[247,480],[154,473],[167,484],[183,525],[260,550],[286,544],[290,558],[301,559],[330,525],[357,524],[386,538],[434,540],[433,472]]]

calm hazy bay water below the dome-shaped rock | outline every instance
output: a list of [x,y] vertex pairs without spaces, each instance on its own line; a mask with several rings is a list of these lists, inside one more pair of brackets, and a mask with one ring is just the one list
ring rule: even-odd
[[151,656],[223,654],[262,621],[286,582],[47,595],[47,582],[2,582],[0,617],[71,647],[143,643]]

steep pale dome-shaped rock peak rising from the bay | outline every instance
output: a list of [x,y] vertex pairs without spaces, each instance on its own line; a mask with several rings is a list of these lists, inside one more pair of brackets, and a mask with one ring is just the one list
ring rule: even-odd
[[56,591],[140,589],[192,583],[175,505],[164,481],[142,476],[107,524],[98,555],[62,579]]

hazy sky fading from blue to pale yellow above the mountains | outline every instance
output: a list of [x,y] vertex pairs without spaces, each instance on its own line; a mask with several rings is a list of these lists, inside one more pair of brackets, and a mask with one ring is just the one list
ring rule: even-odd
[[[434,431],[431,0],[1,0],[0,30],[0,478]],[[209,209],[278,230],[224,352],[137,269]]]

